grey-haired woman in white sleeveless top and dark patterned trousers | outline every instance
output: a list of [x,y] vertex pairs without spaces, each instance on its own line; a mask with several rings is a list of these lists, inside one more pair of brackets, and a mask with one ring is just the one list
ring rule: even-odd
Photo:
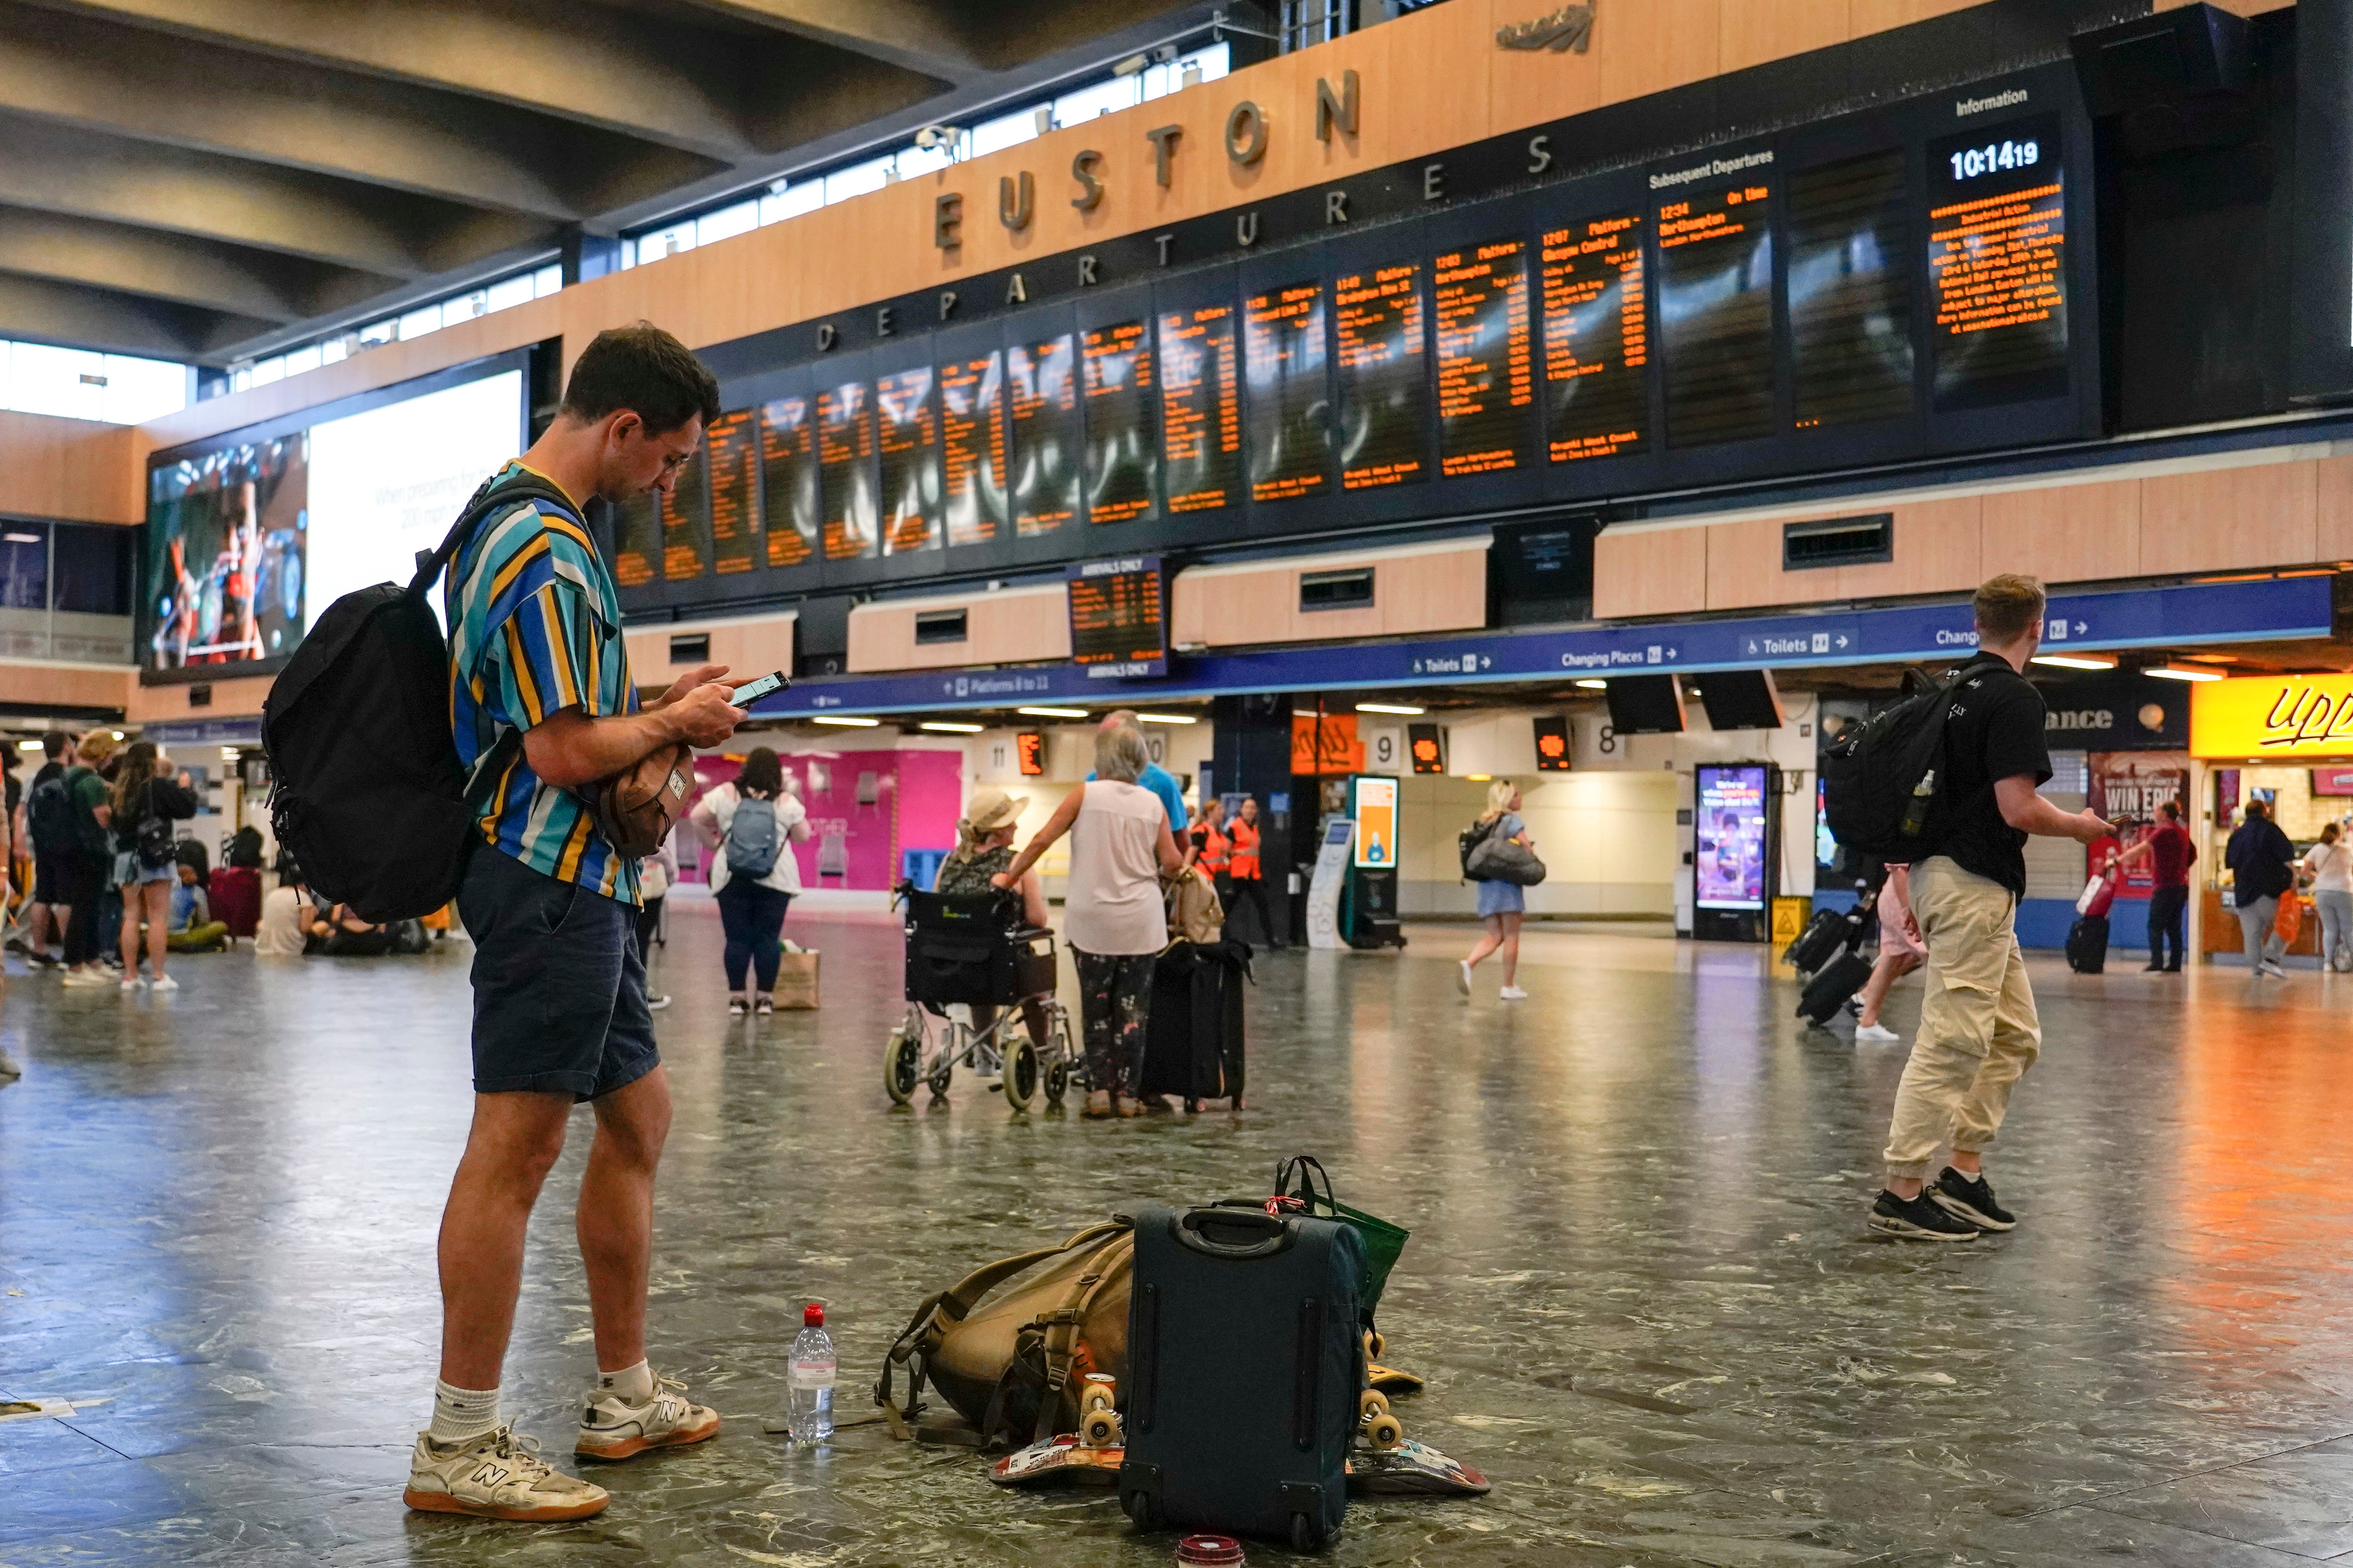
[[1148,764],[1144,731],[1120,724],[1096,733],[1094,778],[1071,790],[1038,837],[993,877],[998,886],[1016,886],[1054,839],[1071,835],[1061,940],[1078,961],[1092,1084],[1087,1117],[1144,1114],[1136,1074],[1151,1023],[1153,961],[1169,945],[1160,872],[1184,865],[1167,806],[1136,785]]

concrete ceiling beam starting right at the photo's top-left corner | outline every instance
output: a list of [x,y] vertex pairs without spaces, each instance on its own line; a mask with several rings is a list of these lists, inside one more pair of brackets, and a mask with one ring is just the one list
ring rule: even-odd
[[548,221],[631,169],[685,183],[725,165],[499,103],[0,5],[0,110],[313,169]]

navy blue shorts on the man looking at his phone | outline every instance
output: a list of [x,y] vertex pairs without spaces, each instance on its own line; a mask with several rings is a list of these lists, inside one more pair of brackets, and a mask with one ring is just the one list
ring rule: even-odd
[[456,912],[473,938],[475,1093],[595,1100],[661,1065],[635,905],[480,844]]

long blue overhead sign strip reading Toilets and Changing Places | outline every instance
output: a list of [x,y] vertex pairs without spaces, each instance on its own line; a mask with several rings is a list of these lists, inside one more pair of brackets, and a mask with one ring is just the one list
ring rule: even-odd
[[[2059,595],[2042,644],[2049,651],[2280,642],[2327,637],[2332,583],[2325,571],[2238,583],[2181,583]],[[1094,679],[1080,665],[1021,665],[925,675],[845,675],[798,682],[762,698],[760,715],[918,712],[1019,708],[1078,701],[1153,703],[1249,691],[1365,686],[1449,689],[1478,682],[1607,677],[1664,670],[1805,670],[1864,663],[1953,661],[1977,646],[1967,599],[1892,609],[1784,611],[1729,621],[1586,625],[1534,632],[1461,632],[1313,649],[1264,649],[1169,658],[1155,679]]]

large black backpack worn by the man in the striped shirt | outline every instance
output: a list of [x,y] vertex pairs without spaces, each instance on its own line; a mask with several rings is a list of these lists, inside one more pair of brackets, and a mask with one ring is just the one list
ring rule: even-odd
[[[440,548],[419,552],[407,588],[376,583],[327,607],[261,705],[278,844],[320,898],[367,922],[421,919],[456,898],[478,802],[449,733],[449,644],[426,595],[482,517],[520,501],[574,515],[536,475],[485,480]],[[496,778],[518,745],[504,736],[475,778]]]

